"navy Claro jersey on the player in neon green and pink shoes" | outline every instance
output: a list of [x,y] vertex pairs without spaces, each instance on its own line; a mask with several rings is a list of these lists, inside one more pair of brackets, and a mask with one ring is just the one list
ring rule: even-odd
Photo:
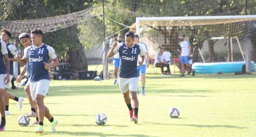
[[39,47],[28,46],[24,50],[24,57],[28,59],[31,82],[50,80],[48,70],[44,68],[44,62],[48,63],[49,59],[57,57],[52,47],[46,44],[42,44]]

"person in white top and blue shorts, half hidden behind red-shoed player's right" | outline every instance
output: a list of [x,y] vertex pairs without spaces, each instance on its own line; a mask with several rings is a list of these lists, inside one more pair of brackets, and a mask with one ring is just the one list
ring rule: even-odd
[[[141,77],[141,80],[142,80],[142,96],[145,95],[145,83],[146,83],[146,77],[145,77],[145,74],[146,74],[146,68],[149,67],[149,54],[148,54],[148,48],[146,46],[145,43],[143,42],[140,42],[139,40],[139,35],[136,34],[135,35],[135,38],[134,38],[134,43],[142,46],[143,50],[144,50],[144,53],[146,55],[146,60],[147,60],[147,63],[146,63],[146,60],[143,61],[143,65],[140,66],[139,65],[139,60],[138,60],[138,63],[137,63],[137,70],[138,70],[138,76]],[[137,91],[137,95],[139,95],[139,89]]]

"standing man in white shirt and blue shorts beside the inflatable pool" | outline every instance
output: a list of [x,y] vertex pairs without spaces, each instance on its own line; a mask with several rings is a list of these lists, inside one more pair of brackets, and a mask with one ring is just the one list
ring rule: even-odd
[[180,77],[185,77],[184,75],[184,64],[188,66],[190,70],[192,70],[192,76],[195,75],[195,71],[192,69],[191,65],[189,64],[189,59],[191,56],[191,46],[190,42],[184,39],[185,35],[180,35],[181,40],[181,54],[180,54],[180,63],[181,63],[181,75]]

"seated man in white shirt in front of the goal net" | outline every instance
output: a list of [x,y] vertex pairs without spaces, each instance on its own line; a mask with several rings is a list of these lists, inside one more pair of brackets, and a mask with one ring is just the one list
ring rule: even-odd
[[[170,74],[171,71],[170,71],[169,62],[164,60],[164,49],[163,48],[160,49],[160,53],[156,54],[154,64],[156,67],[161,67],[162,75]],[[164,67],[167,67],[167,73],[164,73],[165,72]]]

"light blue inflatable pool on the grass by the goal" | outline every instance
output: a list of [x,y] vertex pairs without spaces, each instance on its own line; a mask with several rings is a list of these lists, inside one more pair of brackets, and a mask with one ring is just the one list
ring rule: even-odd
[[[234,73],[241,72],[242,65],[245,64],[245,61],[237,62],[214,62],[214,63],[194,63],[192,69],[196,73]],[[255,71],[254,61],[251,61],[251,71]]]

